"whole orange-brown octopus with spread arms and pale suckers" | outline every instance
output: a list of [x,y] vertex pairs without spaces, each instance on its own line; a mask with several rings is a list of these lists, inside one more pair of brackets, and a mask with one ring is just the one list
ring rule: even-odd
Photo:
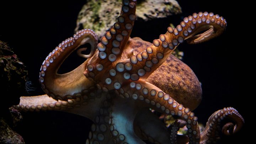
[[[42,63],[39,82],[45,95],[22,96],[15,106],[22,111],[58,110],[94,122],[86,144],[206,144],[220,135],[238,132],[244,119],[233,107],[214,112],[200,132],[192,112],[201,102],[202,89],[193,71],[172,55],[177,46],[208,41],[222,34],[226,20],[212,12],[185,17],[176,28],[168,27],[153,43],[130,38],[136,0],[123,0],[120,16],[105,36],[83,29],[62,41]],[[90,44],[90,54],[82,53]],[[73,71],[58,74],[74,51],[85,62]],[[172,115],[169,127],[151,110]],[[226,122],[226,120],[231,122]],[[226,122],[226,123],[224,123]],[[187,128],[186,135],[177,131]]]

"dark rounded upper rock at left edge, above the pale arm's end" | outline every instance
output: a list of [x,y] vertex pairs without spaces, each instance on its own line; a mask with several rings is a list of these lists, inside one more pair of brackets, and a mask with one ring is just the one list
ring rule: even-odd
[[0,91],[1,110],[8,110],[20,102],[22,91],[25,90],[27,71],[17,55],[0,41]]

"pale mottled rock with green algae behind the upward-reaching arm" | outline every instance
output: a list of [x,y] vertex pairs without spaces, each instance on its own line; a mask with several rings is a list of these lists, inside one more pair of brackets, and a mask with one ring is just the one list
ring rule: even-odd
[[[88,0],[82,7],[76,22],[76,29],[90,28],[101,38],[113,26],[122,5],[122,0]],[[175,0],[138,0],[136,15],[138,20],[180,14],[181,7]]]

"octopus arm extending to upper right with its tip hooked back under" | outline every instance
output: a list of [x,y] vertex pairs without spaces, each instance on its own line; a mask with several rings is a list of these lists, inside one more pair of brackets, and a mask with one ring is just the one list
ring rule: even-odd
[[[219,36],[226,27],[226,20],[212,12],[194,13],[192,16],[184,18],[176,28],[167,28],[165,34],[161,34],[159,39],[155,39],[150,47],[137,55],[132,55],[130,59],[123,63],[132,63],[137,79],[146,79],[154,72],[169,55],[175,50],[178,44],[188,39],[189,43],[200,43]],[[202,34],[199,32],[208,30]]]

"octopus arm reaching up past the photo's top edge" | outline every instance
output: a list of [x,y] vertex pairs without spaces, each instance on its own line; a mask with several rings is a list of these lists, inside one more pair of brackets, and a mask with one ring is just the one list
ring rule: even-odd
[[[99,50],[98,56],[101,59],[109,59],[114,62],[121,58],[123,48],[132,32],[134,20],[136,19],[136,0],[122,1],[122,9],[117,22],[110,28],[110,31],[105,33],[101,38],[101,42],[97,48]],[[105,60],[104,60],[105,61]]]

